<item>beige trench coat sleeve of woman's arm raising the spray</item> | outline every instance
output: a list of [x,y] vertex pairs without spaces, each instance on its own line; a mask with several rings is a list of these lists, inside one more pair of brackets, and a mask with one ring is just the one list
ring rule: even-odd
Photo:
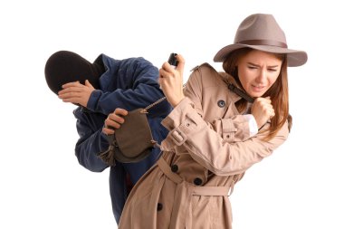
[[[199,85],[192,85],[197,91]],[[197,95],[197,93],[196,93]],[[194,98],[195,100],[195,98]],[[263,157],[272,154],[288,137],[287,123],[269,141],[265,135],[258,133],[252,138],[242,141],[227,141],[212,129],[197,113],[196,100],[185,98],[163,120],[162,124],[169,130],[167,138],[162,142],[163,150],[176,150],[182,146],[196,162],[203,165],[218,176],[241,174]],[[266,124],[263,129],[269,128]]]

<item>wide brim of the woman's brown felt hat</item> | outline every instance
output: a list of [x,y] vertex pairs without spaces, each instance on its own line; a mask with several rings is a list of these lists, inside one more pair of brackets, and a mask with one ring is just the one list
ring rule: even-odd
[[299,50],[292,50],[287,48],[281,48],[277,46],[271,45],[249,45],[249,44],[242,44],[242,43],[234,43],[225,46],[219,52],[215,54],[214,62],[225,62],[228,54],[233,52],[234,50],[242,49],[242,48],[252,48],[254,50],[259,50],[263,52],[272,52],[272,53],[284,53],[287,54],[288,58],[288,66],[289,67],[297,67],[303,65],[307,62],[307,53]]

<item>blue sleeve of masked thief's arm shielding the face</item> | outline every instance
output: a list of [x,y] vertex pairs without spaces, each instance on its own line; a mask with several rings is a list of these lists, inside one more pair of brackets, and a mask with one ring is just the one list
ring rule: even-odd
[[[115,70],[110,72],[113,79],[113,89],[108,91],[93,91],[87,108],[109,115],[116,108],[134,110],[145,108],[150,103],[164,97],[158,85],[158,68],[145,59],[129,58],[119,61]],[[155,110],[158,115],[167,115],[169,104],[158,104]]]

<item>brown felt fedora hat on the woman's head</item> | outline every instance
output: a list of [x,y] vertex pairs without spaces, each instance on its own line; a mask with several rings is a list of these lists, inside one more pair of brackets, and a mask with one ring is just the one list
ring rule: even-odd
[[234,43],[217,52],[214,62],[224,62],[230,52],[245,47],[263,52],[285,53],[290,67],[307,62],[306,52],[288,49],[284,32],[272,14],[252,14],[246,17],[236,31]]

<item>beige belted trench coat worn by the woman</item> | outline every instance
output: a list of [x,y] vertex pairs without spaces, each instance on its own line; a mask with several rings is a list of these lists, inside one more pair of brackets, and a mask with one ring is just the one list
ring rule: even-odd
[[269,142],[262,133],[250,138],[234,106],[241,98],[206,63],[191,74],[185,94],[162,121],[170,130],[162,157],[132,189],[119,229],[232,228],[230,190],[288,137],[285,123]]

